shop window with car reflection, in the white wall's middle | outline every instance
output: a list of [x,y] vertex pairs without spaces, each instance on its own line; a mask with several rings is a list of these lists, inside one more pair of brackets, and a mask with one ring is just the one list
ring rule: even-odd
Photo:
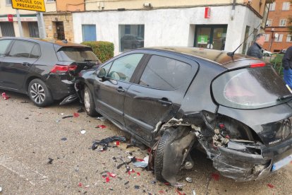
[[144,25],[118,25],[120,52],[144,47]]

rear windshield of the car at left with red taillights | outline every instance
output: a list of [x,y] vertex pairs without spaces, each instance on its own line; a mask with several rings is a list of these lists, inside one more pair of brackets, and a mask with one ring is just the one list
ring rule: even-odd
[[89,47],[61,47],[56,53],[59,61],[97,61]]

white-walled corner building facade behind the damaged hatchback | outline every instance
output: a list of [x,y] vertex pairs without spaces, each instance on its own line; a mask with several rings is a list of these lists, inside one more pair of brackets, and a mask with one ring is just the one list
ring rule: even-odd
[[[115,54],[175,45],[233,51],[264,28],[266,2],[273,1],[87,0],[85,12],[73,13],[73,31],[75,42],[114,42]],[[252,41],[237,52],[245,54]]]

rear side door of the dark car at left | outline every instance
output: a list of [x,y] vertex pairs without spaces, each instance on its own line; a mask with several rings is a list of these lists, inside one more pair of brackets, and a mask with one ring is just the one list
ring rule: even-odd
[[15,40],[7,56],[1,62],[1,87],[20,90],[33,63],[40,56],[39,45]]

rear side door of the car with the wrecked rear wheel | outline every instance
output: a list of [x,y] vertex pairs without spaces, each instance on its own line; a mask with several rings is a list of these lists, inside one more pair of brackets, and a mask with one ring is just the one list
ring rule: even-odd
[[126,92],[126,128],[145,141],[176,115],[198,65],[182,57],[152,55],[142,76]]

